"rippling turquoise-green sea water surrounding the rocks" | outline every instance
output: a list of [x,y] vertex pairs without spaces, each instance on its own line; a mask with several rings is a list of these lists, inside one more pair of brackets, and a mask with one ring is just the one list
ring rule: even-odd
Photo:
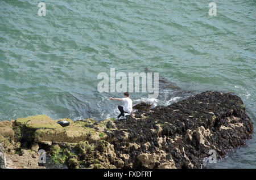
[[[233,92],[256,123],[256,2],[214,1],[0,2],[0,121],[46,114],[104,119],[117,102],[99,93],[100,72],[144,67],[194,93]],[[131,93],[134,102],[145,93]],[[182,96],[164,96],[168,105]],[[256,136],[210,168],[256,168]]]

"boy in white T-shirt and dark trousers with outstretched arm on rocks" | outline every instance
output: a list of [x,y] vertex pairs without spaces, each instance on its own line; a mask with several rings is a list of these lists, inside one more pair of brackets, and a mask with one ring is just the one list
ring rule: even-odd
[[134,114],[133,114],[133,101],[129,97],[129,92],[125,92],[125,93],[123,93],[123,95],[125,95],[124,98],[113,98],[113,97],[109,98],[110,100],[123,101],[123,103],[125,104],[124,107],[123,106],[118,106],[120,114],[118,115],[117,119],[119,119],[119,117],[121,117],[121,116],[125,117],[125,113],[130,113],[131,115],[134,116]]

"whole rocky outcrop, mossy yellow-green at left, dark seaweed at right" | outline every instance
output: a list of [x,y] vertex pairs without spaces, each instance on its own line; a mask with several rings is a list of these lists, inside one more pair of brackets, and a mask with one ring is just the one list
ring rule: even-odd
[[[208,152],[217,158],[245,145],[253,125],[240,97],[207,91],[153,109],[138,107],[122,121],[83,119],[60,126],[46,115],[0,122],[0,143],[11,168],[200,168]],[[38,164],[44,149],[47,162]],[[212,150],[213,149],[213,150]],[[11,162],[17,156],[21,162]],[[35,160],[22,164],[24,157]],[[20,164],[18,167],[16,164]],[[40,165],[40,166],[39,166]]]

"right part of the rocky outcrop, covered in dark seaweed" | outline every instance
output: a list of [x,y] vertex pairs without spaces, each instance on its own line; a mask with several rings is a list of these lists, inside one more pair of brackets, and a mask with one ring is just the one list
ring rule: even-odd
[[203,92],[136,117],[143,118],[117,122],[112,134],[115,151],[128,153],[133,168],[161,168],[170,162],[176,168],[200,168],[210,149],[222,158],[227,149],[245,145],[253,132],[241,98],[230,93]]

